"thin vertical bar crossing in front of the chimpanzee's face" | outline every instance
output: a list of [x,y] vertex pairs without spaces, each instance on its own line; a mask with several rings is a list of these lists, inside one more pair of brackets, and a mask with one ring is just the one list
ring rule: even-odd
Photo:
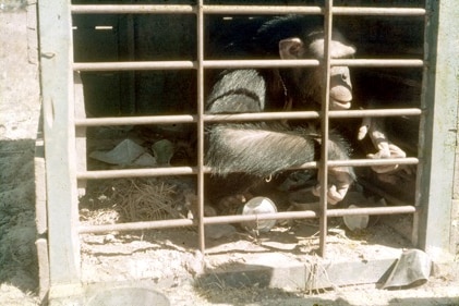
[[321,163],[319,163],[319,178],[321,178],[321,219],[319,219],[319,255],[326,256],[327,244],[327,185],[328,185],[328,106],[329,106],[329,89],[330,89],[330,39],[333,29],[333,0],[325,1],[324,13],[324,59],[323,59],[323,98],[322,98],[322,147],[321,147]]

